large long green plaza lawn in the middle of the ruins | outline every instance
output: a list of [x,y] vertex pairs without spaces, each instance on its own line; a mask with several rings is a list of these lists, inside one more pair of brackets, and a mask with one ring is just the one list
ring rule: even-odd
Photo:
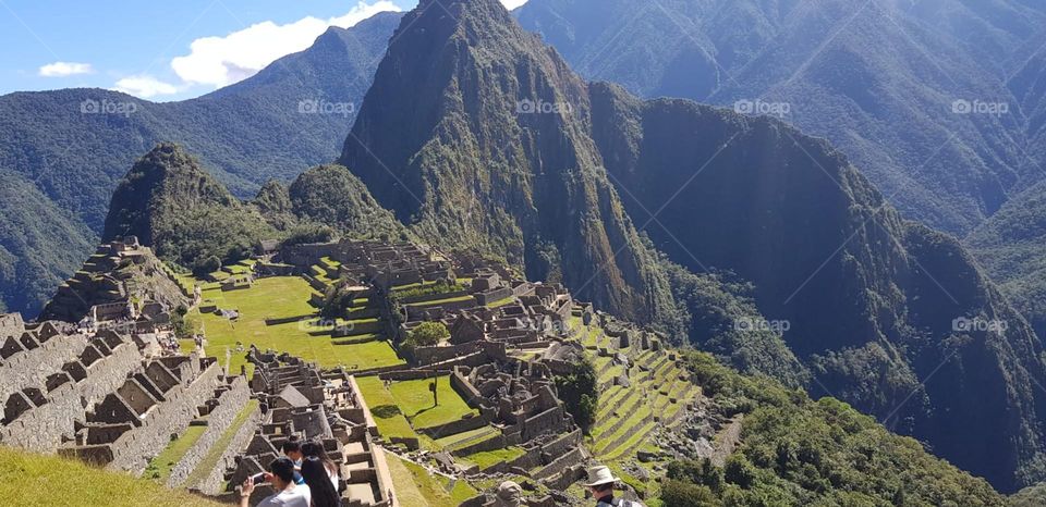
[[[220,316],[193,311],[190,322],[197,331],[205,332],[208,354],[223,358],[226,348],[233,350],[232,372],[239,372],[240,366],[246,364],[245,354],[235,353],[236,342],[244,348],[254,344],[260,349],[287,351],[316,361],[321,368],[366,369],[404,363],[387,342],[339,346],[331,343],[330,336],[316,334],[317,329],[304,322],[266,324],[266,319],[313,319],[316,309],[308,304],[312,295],[312,287],[299,276],[260,279],[243,290],[205,288],[205,299],[214,300],[221,309],[239,310],[240,319],[232,322]],[[192,342],[186,346],[191,348]]]

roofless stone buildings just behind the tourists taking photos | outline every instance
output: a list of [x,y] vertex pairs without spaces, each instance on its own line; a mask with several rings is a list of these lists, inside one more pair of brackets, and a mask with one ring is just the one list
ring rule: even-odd
[[[377,426],[355,379],[341,370],[321,372],[315,364],[285,354],[252,348],[248,359],[255,364],[251,387],[260,401],[262,418],[228,463],[220,481],[229,484],[226,493],[282,456],[282,444],[293,435],[323,442],[328,456],[340,467],[344,506],[393,505],[385,455],[370,442],[378,434]],[[270,494],[271,487],[256,489],[252,504]]]

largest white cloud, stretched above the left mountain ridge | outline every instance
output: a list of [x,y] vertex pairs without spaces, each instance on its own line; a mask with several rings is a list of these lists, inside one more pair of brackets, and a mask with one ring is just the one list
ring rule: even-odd
[[328,26],[348,28],[379,12],[399,10],[389,0],[361,1],[348,14],[326,21],[312,16],[285,25],[266,21],[224,37],[196,39],[190,54],[172,60],[171,67],[187,84],[228,86],[281,57],[305,50]]

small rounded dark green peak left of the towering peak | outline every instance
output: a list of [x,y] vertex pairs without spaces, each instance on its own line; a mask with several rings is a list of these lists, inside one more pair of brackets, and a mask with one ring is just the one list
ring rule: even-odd
[[232,197],[195,158],[163,143],[117,186],[102,239],[134,235],[160,258],[197,268],[212,257],[246,257],[271,233],[256,210]]

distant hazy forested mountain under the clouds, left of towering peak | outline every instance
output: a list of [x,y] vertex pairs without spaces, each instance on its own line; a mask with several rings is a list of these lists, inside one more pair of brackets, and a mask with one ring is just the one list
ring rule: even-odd
[[[62,230],[100,234],[118,181],[160,141],[184,145],[234,195],[251,196],[270,178],[290,181],[337,157],[399,17],[382,13],[350,29],[332,27],[312,48],[236,85],[182,102],[154,103],[99,89],[0,97],[0,168],[33,182],[64,211],[56,215],[61,226],[40,231],[51,243],[63,240],[58,237]],[[81,245],[72,257],[82,260],[90,247]],[[22,255],[20,265],[48,263],[46,251],[26,248]],[[61,280],[75,267],[48,269]],[[13,275],[33,277],[20,268]],[[4,284],[2,292],[17,290]],[[44,300],[4,299],[27,316]]]

